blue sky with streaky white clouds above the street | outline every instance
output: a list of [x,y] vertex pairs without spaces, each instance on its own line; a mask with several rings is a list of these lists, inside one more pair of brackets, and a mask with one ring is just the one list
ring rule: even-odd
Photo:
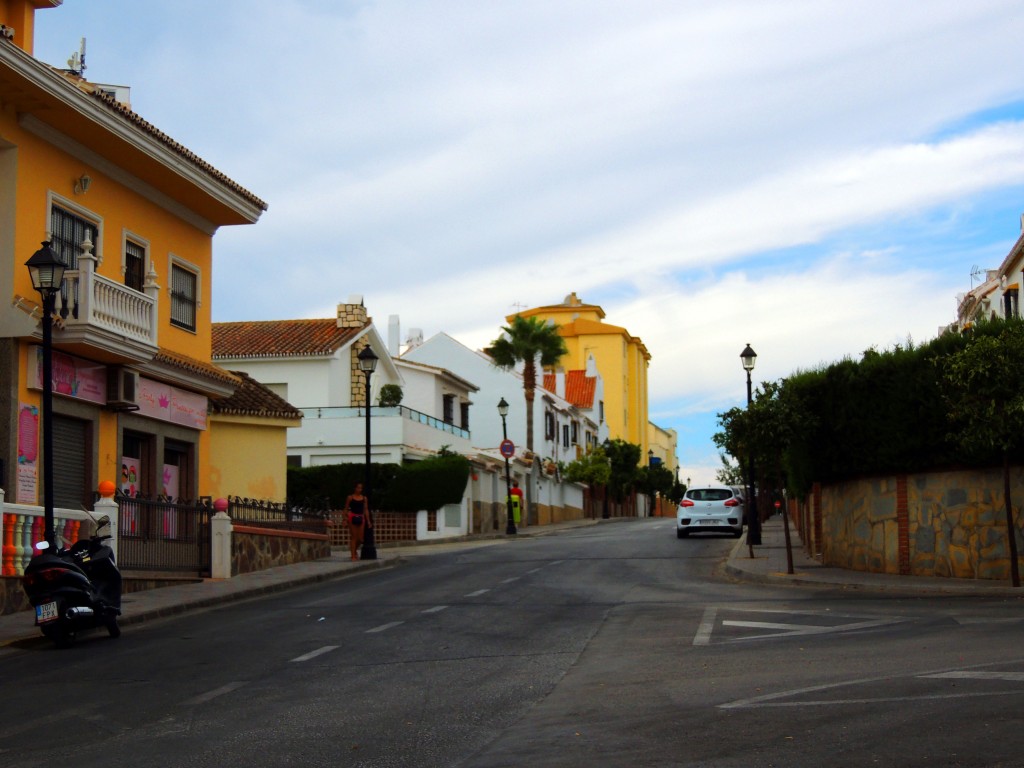
[[35,54],[265,200],[215,322],[473,348],[569,293],[651,354],[680,475],[754,383],[924,342],[1024,213],[1020,0],[65,0]]

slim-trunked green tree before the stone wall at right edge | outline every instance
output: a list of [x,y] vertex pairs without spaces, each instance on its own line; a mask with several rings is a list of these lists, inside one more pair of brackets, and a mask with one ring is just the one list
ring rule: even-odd
[[1010,454],[1024,434],[1024,323],[1009,322],[995,335],[973,336],[942,361],[942,368],[952,436],[970,456],[995,451],[1002,457],[1011,579],[1014,587],[1020,587]]

